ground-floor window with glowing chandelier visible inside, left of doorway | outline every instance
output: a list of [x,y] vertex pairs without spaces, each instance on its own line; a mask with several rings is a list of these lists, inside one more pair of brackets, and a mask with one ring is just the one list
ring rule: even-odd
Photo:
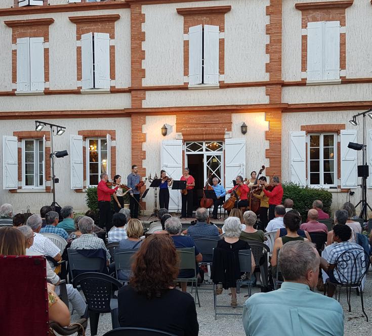
[[109,174],[108,142],[107,138],[87,139],[87,185],[98,185],[100,174]]

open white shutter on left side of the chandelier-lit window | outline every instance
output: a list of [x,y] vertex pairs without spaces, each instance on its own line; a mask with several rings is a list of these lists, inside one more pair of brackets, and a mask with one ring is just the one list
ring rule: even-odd
[[82,189],[84,187],[84,167],[81,135],[70,135],[70,158],[71,189]]

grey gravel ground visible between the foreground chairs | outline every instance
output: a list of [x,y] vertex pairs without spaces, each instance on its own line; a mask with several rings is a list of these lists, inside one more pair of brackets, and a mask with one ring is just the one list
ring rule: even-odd
[[[368,273],[367,281],[365,283],[364,290],[364,307],[368,317],[372,319],[372,277],[371,273]],[[202,285],[201,288],[210,288],[211,286]],[[199,287],[200,288],[200,287]],[[259,289],[254,287],[252,293],[259,292]],[[247,289],[242,288],[240,294],[238,294],[238,304],[242,305],[247,299]],[[214,318],[213,309],[213,293],[212,290],[199,290],[199,298],[201,307],[196,306],[196,312],[199,321],[199,335],[200,336],[211,336],[211,335],[234,335],[234,336],[245,336],[244,329],[242,326],[241,316],[231,315],[220,315],[217,316],[217,321]],[[222,295],[218,296],[218,304],[229,305],[230,296],[228,291],[223,291]],[[344,308],[345,313],[345,336],[359,336],[370,334],[370,324],[366,322],[365,317],[361,310],[360,297],[356,295],[355,291],[352,291],[351,296],[351,312],[348,312],[348,306],[346,301],[345,290],[342,291],[341,305]],[[241,308],[220,308],[225,309],[226,312],[241,313]],[[146,318],[144,314],[144,318]],[[72,321],[76,321],[78,316],[76,313],[72,316]],[[101,336],[105,332],[111,330],[111,316],[110,314],[101,314],[98,325],[98,335]],[[91,336],[90,327],[88,323],[87,336]]]

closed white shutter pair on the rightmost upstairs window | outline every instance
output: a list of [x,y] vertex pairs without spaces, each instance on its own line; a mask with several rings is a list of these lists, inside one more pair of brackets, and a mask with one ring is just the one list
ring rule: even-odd
[[307,80],[340,79],[340,21],[307,24]]

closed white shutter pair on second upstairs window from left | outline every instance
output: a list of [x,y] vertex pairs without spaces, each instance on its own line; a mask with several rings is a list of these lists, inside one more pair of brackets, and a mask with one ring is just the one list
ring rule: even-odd
[[81,35],[81,87],[110,88],[110,34]]

